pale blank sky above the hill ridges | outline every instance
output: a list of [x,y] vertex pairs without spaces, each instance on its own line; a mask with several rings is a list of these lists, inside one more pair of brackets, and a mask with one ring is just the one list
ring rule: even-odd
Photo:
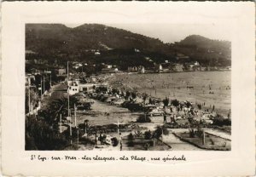
[[[76,27],[83,24],[65,24],[68,27]],[[189,35],[201,35],[211,39],[231,41],[230,26],[217,26],[215,24],[103,24],[127,31],[143,34],[144,36],[159,38],[164,43],[174,43],[183,40]]]

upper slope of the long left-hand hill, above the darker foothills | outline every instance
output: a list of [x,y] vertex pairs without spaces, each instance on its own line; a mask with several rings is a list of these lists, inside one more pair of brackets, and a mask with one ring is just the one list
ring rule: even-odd
[[84,24],[76,28],[63,25],[26,25],[26,50],[37,53],[73,54],[89,49],[142,49],[162,50],[165,44],[159,39],[145,37],[109,26]]

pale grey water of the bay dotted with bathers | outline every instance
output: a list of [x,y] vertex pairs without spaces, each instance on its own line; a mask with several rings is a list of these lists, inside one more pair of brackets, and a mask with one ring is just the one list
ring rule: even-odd
[[[210,76],[214,75],[216,71],[189,71],[189,73],[200,73],[201,72],[207,72],[207,73],[212,73]],[[224,71],[222,71],[224,72]],[[222,73],[221,72],[221,73]],[[177,73],[175,74],[176,77],[183,77],[186,76],[188,72],[173,72]],[[218,72],[220,73],[220,72]],[[230,74],[230,71],[227,72]],[[151,74],[151,76],[150,76]],[[164,74],[163,79],[162,79],[162,84],[160,85],[157,84],[157,79],[160,75],[158,74]],[[171,73],[122,73],[121,75],[109,75],[109,77],[106,78],[106,81],[108,81],[109,85],[113,88],[119,88],[119,90],[126,91],[135,91],[137,92],[137,96],[142,96],[143,94],[148,94],[148,97],[158,99],[158,100],[163,100],[166,97],[169,98],[170,100],[179,100],[179,101],[185,101],[189,100],[192,101],[195,104],[202,104],[206,103],[206,106],[203,107],[203,110],[211,110],[212,106],[215,106],[215,110],[220,114],[226,117],[231,109],[230,105],[230,84],[229,83],[224,83],[225,85],[222,86],[224,88],[218,88],[220,87],[218,83],[210,83],[213,86],[212,92],[216,92],[215,94],[210,94],[209,90],[207,88],[207,83],[205,85],[203,83],[196,83],[193,79],[194,77],[198,76],[190,76],[192,77],[192,80],[189,80],[189,85],[185,85],[184,83],[181,83],[181,80],[177,80],[179,83],[175,83],[173,81],[173,76],[171,75],[170,77],[168,74]],[[182,74],[182,76],[179,76],[178,74]],[[143,77],[145,76],[145,77]],[[151,77],[151,78],[150,78]],[[153,77],[153,78],[152,78]],[[172,77],[172,78],[171,78]],[[138,78],[138,81],[132,80],[132,79]],[[164,80],[164,79],[167,80]],[[207,78],[209,82],[211,81],[211,78]],[[146,80],[146,81],[145,81]],[[148,81],[147,81],[148,80]],[[151,82],[152,83],[151,83]],[[119,83],[115,83],[119,82]],[[165,83],[166,82],[166,83]],[[169,84],[168,84],[169,82]],[[170,83],[171,82],[171,83]],[[187,81],[188,82],[188,81]],[[150,85],[151,84],[151,85]],[[166,85],[165,85],[166,84]],[[170,85],[171,84],[171,85]],[[188,86],[192,85],[193,88],[189,89]],[[217,85],[217,86],[216,86]],[[159,88],[157,88],[159,87]],[[160,88],[162,87],[162,88]],[[214,88],[215,87],[215,88]],[[225,88],[228,87],[228,88]],[[204,92],[204,93],[203,93]]]

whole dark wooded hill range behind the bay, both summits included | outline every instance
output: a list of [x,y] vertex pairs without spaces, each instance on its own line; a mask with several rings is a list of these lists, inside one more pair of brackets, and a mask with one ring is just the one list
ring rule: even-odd
[[[230,42],[191,35],[179,43],[170,44],[98,24],[84,24],[75,28],[61,24],[27,24],[26,50],[35,53],[28,54],[26,60],[105,62],[121,69],[137,65],[154,66],[154,63],[165,60],[177,62],[177,54],[185,54],[190,61],[199,60],[203,65],[230,65]],[[100,55],[96,55],[95,51]],[[152,62],[145,58],[150,58]]]

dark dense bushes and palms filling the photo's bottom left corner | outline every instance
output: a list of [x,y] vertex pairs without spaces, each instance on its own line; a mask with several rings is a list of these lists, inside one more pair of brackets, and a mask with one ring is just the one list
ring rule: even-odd
[[[70,97],[70,104],[78,104]],[[26,150],[62,150],[68,146],[69,131],[59,132],[59,117],[67,117],[67,98],[63,97],[49,103],[38,112],[38,116],[26,117]],[[76,131],[73,129],[73,135]]]

